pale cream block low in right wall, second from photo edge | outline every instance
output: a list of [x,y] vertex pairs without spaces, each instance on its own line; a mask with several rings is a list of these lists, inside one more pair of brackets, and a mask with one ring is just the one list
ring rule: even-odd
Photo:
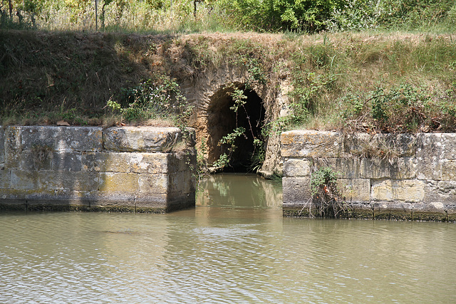
[[424,182],[420,180],[372,180],[371,198],[374,201],[424,201]]

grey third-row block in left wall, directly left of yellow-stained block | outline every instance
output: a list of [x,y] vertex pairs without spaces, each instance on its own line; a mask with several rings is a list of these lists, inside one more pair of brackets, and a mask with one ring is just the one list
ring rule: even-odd
[[98,189],[99,184],[96,172],[39,171],[38,179],[37,192],[46,190],[90,191]]

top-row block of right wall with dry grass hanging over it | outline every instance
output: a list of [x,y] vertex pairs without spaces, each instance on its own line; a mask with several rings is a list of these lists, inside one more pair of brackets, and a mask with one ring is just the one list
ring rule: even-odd
[[345,152],[360,157],[383,157],[393,154],[397,157],[414,156],[417,139],[410,134],[356,133],[346,135]]

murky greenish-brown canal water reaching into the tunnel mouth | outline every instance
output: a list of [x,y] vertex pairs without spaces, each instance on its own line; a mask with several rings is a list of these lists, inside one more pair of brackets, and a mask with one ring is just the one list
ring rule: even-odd
[[171,214],[0,214],[0,303],[456,303],[456,224],[284,219],[221,174]]

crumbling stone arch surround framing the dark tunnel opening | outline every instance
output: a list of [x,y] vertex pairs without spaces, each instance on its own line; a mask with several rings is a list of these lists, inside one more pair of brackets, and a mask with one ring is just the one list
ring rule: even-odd
[[[249,83],[249,90],[246,90],[246,84]],[[287,93],[291,86],[289,80],[284,78],[280,83],[251,83],[247,70],[239,67],[225,65],[217,69],[207,70],[204,75],[200,75],[197,79],[187,80],[182,83],[181,88],[187,100],[195,106],[195,113],[190,118],[190,127],[194,127],[197,133],[197,148],[201,152],[201,145],[204,142],[206,146],[205,157],[210,163],[218,159],[222,153],[222,148],[217,146],[220,138],[227,133],[232,132],[235,123],[233,124],[234,112],[229,110],[232,103],[227,87],[234,85],[236,88],[244,90],[244,95],[247,95],[249,105],[253,109],[247,111],[252,112],[254,117],[254,109],[258,114],[250,121],[254,122],[252,129],[257,130],[270,122],[273,122],[278,117],[286,115],[288,105]],[[263,117],[260,117],[263,115]],[[246,117],[243,119],[247,122]],[[257,120],[259,124],[257,126]],[[247,128],[246,128],[247,129]],[[252,134],[251,130],[247,130]],[[251,135],[250,135],[251,136]],[[274,172],[281,171],[281,157],[279,155],[279,134],[269,132],[264,137],[266,156],[264,159],[261,174],[269,175]],[[247,142],[253,142],[252,136]],[[245,145],[239,151],[247,151],[252,153],[252,146]],[[234,159],[246,158],[247,152],[234,155]],[[239,152],[241,153],[241,152]]]

